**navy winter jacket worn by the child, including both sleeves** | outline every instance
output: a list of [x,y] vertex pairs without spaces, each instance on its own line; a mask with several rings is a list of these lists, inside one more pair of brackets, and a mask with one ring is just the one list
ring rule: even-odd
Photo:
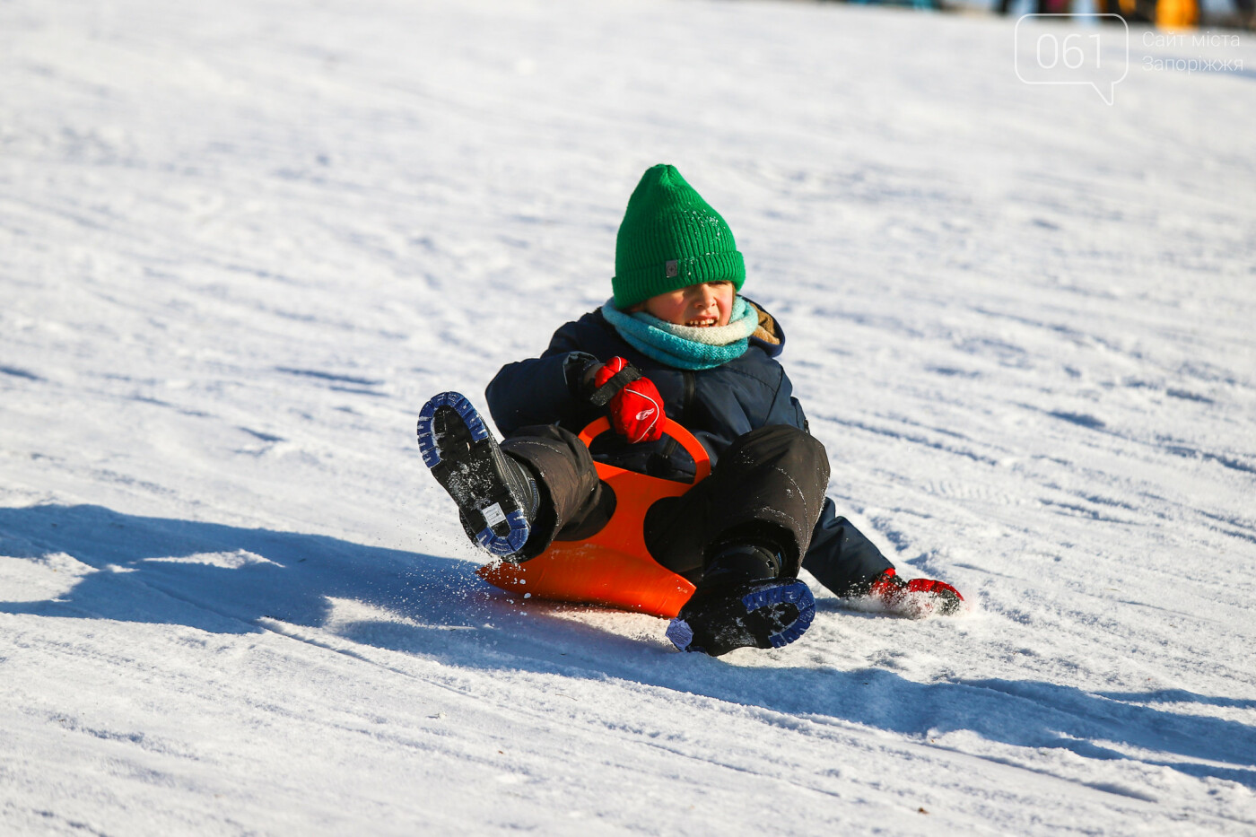
[[[642,354],[600,310],[590,312],[554,332],[539,358],[504,366],[485,393],[489,411],[505,436],[529,425],[550,424],[579,432],[603,412],[578,395],[574,376],[590,357],[603,363],[623,357],[654,382],[667,416],[687,427],[710,454],[711,465],[717,466],[732,440],[751,430],[766,425],[808,430],[794,387],[776,362],[785,347],[785,333],[759,305],[755,308],[760,310],[761,332],[776,342],[751,337],[740,358],[701,371],[678,369]],[[628,445],[615,434],[604,434],[592,452],[599,461],[664,479],[693,476],[693,460],[668,439]],[[845,518],[836,517],[833,501],[826,499],[803,567],[838,594],[847,594],[891,566]]]

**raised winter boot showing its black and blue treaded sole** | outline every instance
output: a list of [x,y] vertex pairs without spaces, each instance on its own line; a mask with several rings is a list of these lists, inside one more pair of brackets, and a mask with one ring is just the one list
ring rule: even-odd
[[528,542],[540,506],[536,481],[506,456],[484,418],[458,392],[442,392],[418,413],[423,464],[458,505],[467,535],[509,558]]

